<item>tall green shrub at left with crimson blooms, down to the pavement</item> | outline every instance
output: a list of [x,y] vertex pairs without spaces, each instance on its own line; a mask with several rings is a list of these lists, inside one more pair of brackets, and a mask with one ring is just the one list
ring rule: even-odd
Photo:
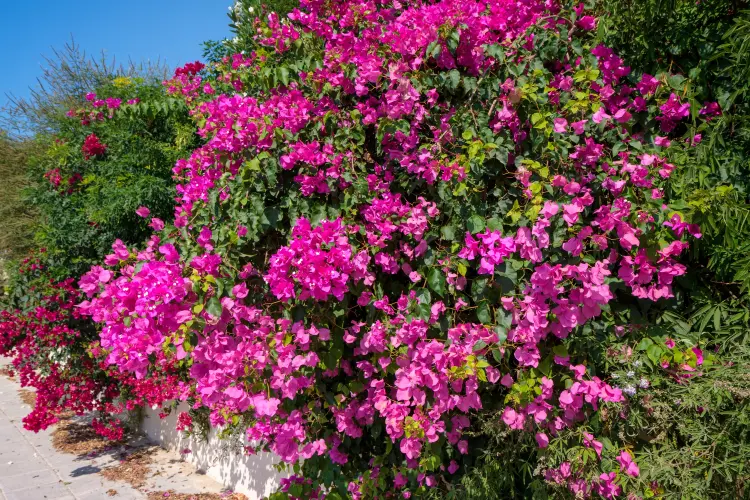
[[[76,307],[83,300],[77,281],[113,239],[139,244],[153,231],[139,206],[171,216],[171,168],[200,141],[187,108],[160,83],[113,74],[90,90],[81,106],[65,110],[67,117],[46,122],[53,137],[27,139],[32,154],[16,166],[33,180],[17,195],[39,215],[28,230],[34,239],[16,245],[37,250],[12,269],[0,296],[0,354],[12,358],[23,385],[36,389],[35,408],[24,419],[34,431],[67,412],[116,414],[175,397],[169,385],[161,391],[161,378],[137,381],[101,364],[95,325]],[[120,437],[112,422],[99,419],[98,429]]]

